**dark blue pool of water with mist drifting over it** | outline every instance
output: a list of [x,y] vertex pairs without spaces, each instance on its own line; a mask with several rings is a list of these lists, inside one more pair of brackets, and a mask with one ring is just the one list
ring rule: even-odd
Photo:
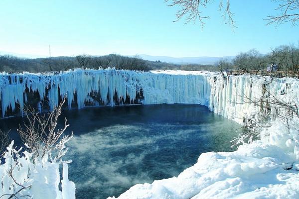
[[[117,197],[135,184],[177,176],[201,153],[235,150],[230,140],[240,131],[196,104],[93,107],[62,117],[74,132],[64,160],[73,160],[69,179],[78,199]],[[2,119],[0,128],[14,134],[20,121]]]

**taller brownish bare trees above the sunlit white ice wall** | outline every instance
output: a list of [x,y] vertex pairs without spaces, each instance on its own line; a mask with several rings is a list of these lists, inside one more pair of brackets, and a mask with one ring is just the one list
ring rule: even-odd
[[256,49],[240,52],[233,60],[222,59],[217,63],[218,70],[228,75],[231,70],[258,74],[260,71],[282,71],[284,76],[299,75],[299,45],[282,45],[263,55]]

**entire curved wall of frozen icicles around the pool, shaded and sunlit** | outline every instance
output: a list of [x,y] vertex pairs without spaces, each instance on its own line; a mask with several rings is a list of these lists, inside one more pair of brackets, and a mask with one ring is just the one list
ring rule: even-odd
[[[67,98],[68,107],[116,103],[198,103],[211,111],[243,123],[260,111],[256,105],[266,90],[282,100],[299,99],[299,81],[247,75],[223,78],[218,73],[194,71],[134,72],[127,70],[74,70],[58,74],[0,74],[2,116],[8,108],[20,112],[28,95],[38,92],[50,109]],[[31,93],[31,94],[30,94]],[[291,95],[292,94],[292,95]],[[288,96],[288,98],[286,98]],[[127,99],[127,100],[126,100]],[[34,104],[41,109],[41,103]],[[267,104],[263,104],[267,106]],[[269,109],[278,111],[275,107]]]

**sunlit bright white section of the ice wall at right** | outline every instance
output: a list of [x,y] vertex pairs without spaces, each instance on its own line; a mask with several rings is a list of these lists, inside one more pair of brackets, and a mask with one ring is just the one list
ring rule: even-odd
[[283,111],[279,104],[268,104],[270,98],[299,103],[299,80],[293,78],[250,78],[249,75],[223,78],[216,75],[208,81],[211,85],[210,110],[241,124],[244,118],[255,117],[262,107],[270,118],[274,118],[277,111]]

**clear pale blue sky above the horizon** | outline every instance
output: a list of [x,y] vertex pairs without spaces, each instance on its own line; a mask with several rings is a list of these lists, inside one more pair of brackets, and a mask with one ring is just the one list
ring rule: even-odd
[[211,19],[173,22],[177,7],[163,0],[0,0],[0,51],[18,54],[230,56],[251,48],[299,42],[299,26],[266,26],[275,13],[271,0],[231,0],[235,32],[217,11],[218,0],[203,9]]

